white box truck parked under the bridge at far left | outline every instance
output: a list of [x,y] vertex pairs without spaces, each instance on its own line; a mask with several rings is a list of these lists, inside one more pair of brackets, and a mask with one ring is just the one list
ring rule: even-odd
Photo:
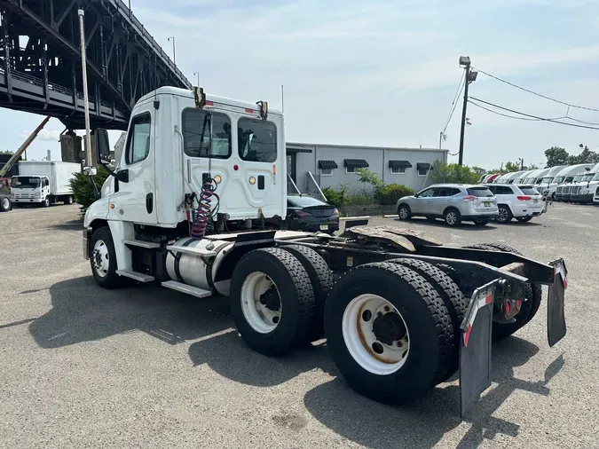
[[72,162],[19,161],[19,176],[11,178],[12,204],[73,204],[70,180],[80,171],[81,165]]

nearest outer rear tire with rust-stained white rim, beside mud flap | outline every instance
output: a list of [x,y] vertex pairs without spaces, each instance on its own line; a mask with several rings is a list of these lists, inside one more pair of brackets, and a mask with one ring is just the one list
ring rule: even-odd
[[[374,307],[375,312],[366,315],[367,303],[358,306],[368,298],[382,300],[398,313],[383,308],[386,313],[379,315],[380,307]],[[398,327],[386,327],[390,343],[382,348],[378,340],[382,336],[374,335],[374,327],[383,317],[401,318],[407,341],[397,334]],[[368,333],[371,321],[373,330]],[[328,298],[325,333],[329,353],[351,388],[383,403],[405,403],[421,396],[437,384],[451,362],[453,326],[445,303],[427,280],[400,264],[364,264],[347,272]],[[374,343],[368,345],[367,339]],[[385,361],[374,356],[377,343],[387,351]],[[407,345],[407,351],[400,343]]]

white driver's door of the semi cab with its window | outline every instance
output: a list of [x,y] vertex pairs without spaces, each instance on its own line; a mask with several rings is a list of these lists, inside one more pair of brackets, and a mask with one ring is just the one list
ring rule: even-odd
[[120,170],[128,170],[129,182],[119,183],[119,192],[113,197],[114,209],[108,212],[109,219],[156,223],[153,112],[149,106],[142,107],[131,118],[124,166],[120,167]]

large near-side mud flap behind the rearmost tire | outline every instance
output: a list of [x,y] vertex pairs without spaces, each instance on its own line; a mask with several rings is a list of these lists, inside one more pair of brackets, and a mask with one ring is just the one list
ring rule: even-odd
[[477,288],[461,323],[460,414],[463,418],[491,386],[493,297],[499,280]]

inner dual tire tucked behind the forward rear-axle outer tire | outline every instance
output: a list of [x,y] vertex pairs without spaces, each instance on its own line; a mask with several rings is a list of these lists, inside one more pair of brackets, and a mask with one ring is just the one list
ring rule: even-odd
[[328,268],[325,259],[312,248],[304,247],[303,245],[286,245],[281,247],[281,249],[296,256],[310,277],[310,282],[314,289],[315,314],[311,326],[310,340],[311,342],[315,342],[325,335],[325,304],[335,284],[333,272]]

